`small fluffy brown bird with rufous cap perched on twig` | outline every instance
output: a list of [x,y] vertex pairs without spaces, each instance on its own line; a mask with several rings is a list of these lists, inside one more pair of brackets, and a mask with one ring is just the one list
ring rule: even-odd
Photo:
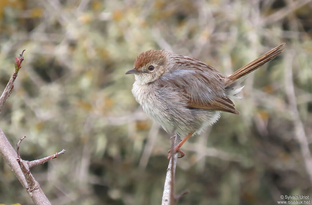
[[[285,43],[284,43],[285,44]],[[236,80],[271,61],[283,50],[281,44],[229,76],[224,76],[197,58],[176,55],[165,50],[141,53],[134,62],[132,93],[146,114],[168,131],[186,136],[176,147],[193,134],[220,118],[220,112],[239,114],[233,99],[241,98]],[[168,159],[171,154],[169,150]]]

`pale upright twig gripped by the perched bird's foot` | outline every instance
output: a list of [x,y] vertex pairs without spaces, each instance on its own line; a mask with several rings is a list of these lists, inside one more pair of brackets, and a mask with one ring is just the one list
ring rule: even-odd
[[[181,136],[176,134],[175,139],[174,139],[174,145],[172,146],[171,152],[173,153],[173,147],[177,146],[178,143],[181,142]],[[171,205],[174,204],[174,177],[175,177],[175,170],[176,170],[176,165],[177,165],[177,158],[178,158],[178,152],[172,154],[168,169],[167,169],[167,174],[166,174],[166,180],[165,180],[165,185],[163,188],[163,199],[162,199],[162,205]]]

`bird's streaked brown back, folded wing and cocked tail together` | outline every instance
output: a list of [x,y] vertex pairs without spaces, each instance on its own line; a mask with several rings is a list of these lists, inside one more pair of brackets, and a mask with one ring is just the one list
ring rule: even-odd
[[159,77],[158,82],[180,93],[190,108],[239,114],[232,100],[226,96],[225,87],[231,86],[238,78],[275,58],[283,51],[280,50],[283,45],[277,46],[228,77],[197,58],[173,54],[175,65],[172,68],[180,69],[167,70]]

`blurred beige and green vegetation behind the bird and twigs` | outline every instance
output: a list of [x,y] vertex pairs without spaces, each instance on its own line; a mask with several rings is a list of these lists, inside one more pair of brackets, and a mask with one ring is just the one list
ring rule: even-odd
[[[183,147],[179,204],[312,197],[312,3],[307,0],[1,0],[0,88],[25,60],[0,116],[53,204],[160,204],[169,134],[131,94],[137,55],[167,49],[230,74],[275,46],[221,119]],[[293,80],[292,80],[293,78]],[[0,203],[31,204],[0,159]]]

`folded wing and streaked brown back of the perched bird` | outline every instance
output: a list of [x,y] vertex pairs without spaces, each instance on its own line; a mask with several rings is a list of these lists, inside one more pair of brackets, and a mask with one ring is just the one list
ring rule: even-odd
[[189,108],[239,114],[232,100],[225,94],[222,74],[197,58],[175,56],[179,61],[176,61],[177,65],[174,67],[179,69],[160,76],[158,79],[160,86],[177,91],[186,99],[186,106]]

